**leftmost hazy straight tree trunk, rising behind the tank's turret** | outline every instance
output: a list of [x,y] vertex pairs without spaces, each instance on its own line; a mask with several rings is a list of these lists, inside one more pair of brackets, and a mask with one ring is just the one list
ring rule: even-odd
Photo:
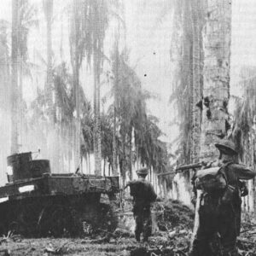
[[18,145],[18,6],[19,0],[12,0],[12,90],[11,90],[11,153],[19,151]]

